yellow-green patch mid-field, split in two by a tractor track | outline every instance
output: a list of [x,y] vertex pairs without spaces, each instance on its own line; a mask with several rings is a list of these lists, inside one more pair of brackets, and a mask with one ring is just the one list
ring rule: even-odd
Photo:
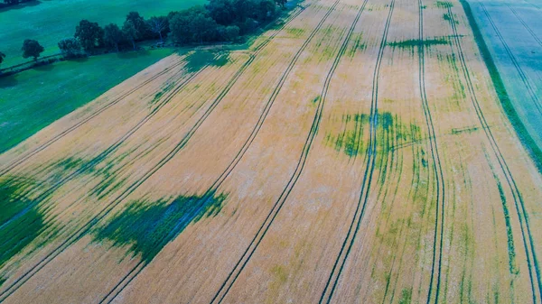
[[[389,112],[378,113],[377,125],[377,152],[386,153],[408,143],[421,140],[421,130],[415,124],[403,124],[397,115]],[[325,136],[326,144],[332,145],[337,152],[344,152],[354,156],[367,151],[368,143],[361,138],[364,132],[369,132],[369,115],[343,115],[342,130],[339,134],[328,132]]]

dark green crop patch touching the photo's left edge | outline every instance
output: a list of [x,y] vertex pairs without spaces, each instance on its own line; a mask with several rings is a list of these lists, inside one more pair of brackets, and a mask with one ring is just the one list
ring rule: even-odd
[[28,198],[33,186],[30,180],[0,180],[0,268],[46,226],[38,202]]

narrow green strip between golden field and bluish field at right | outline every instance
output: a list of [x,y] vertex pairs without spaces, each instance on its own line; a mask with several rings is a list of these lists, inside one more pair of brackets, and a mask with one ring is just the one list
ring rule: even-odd
[[514,129],[516,130],[516,133],[518,134],[521,143],[523,143],[523,145],[529,152],[532,160],[537,165],[537,170],[539,172],[542,172],[542,150],[538,147],[537,143],[531,137],[531,135],[528,134],[527,128],[521,121],[521,117],[519,117],[518,112],[516,112],[516,109],[514,108],[509,98],[508,92],[504,87],[504,82],[500,77],[499,70],[497,69],[495,61],[491,57],[491,52],[488,49],[485,41],[483,40],[480,28],[478,27],[478,24],[474,19],[471,6],[468,2],[464,0],[460,0],[460,2],[463,5],[463,10],[465,11],[467,20],[469,20],[469,24],[471,25],[472,32],[474,34],[474,40],[478,44],[478,48],[481,52],[481,57],[483,58],[490,72],[491,81],[493,82],[493,87],[495,88],[497,97],[499,97],[500,105],[504,108],[505,113],[508,115],[509,121],[514,126]]

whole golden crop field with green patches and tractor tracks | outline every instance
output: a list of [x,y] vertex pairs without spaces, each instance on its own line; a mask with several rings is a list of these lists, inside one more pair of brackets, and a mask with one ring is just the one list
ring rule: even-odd
[[0,302],[528,303],[542,175],[458,1],[307,0],[0,155]]

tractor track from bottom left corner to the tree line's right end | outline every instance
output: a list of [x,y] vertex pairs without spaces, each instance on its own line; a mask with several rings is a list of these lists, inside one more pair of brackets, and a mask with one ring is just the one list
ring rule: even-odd
[[[298,14],[301,14],[301,12],[304,11],[304,7],[302,7],[298,12],[292,15],[292,17],[297,16]],[[289,19],[291,21],[293,18]],[[283,24],[282,28],[285,27],[287,23]],[[19,278],[15,279],[12,283],[10,283],[5,290],[3,290],[0,293],[0,302],[3,302],[5,299],[7,299],[10,295],[12,295],[16,290],[18,290],[21,286],[23,286],[23,283],[30,280],[30,278],[33,277],[33,275],[37,272],[39,272],[45,265],[50,263],[56,256],[61,254],[66,248],[68,248],[71,244],[74,244],[77,242],[82,236],[86,235],[92,226],[96,225],[101,219],[103,219],[105,216],[107,216],[111,210],[113,210],[117,205],[120,204],[121,201],[123,201],[124,198],[128,197],[135,189],[137,189],[141,184],[145,182],[145,180],[148,180],[154,173],[159,170],[160,168],[164,167],[165,163],[173,159],[173,156],[180,152],[182,148],[190,141],[192,138],[192,135],[196,133],[196,131],[200,128],[201,124],[207,119],[207,117],[210,115],[210,113],[220,104],[220,101],[226,97],[226,95],[229,93],[229,90],[234,86],[234,84],[237,82],[238,78],[241,77],[241,75],[244,73],[246,69],[250,66],[250,64],[257,58],[257,54],[259,54],[260,51],[262,51],[268,43],[276,37],[278,34],[277,31],[273,35],[267,37],[266,41],[262,42],[257,46],[257,48],[254,50],[254,52],[251,54],[249,60],[243,64],[243,66],[238,69],[236,74],[232,79],[229,80],[228,85],[220,92],[220,95],[215,98],[215,100],[212,102],[211,106],[205,111],[203,115],[198,119],[196,124],[192,126],[192,129],[183,136],[181,142],[179,142],[175,148],[173,148],[172,151],[168,152],[167,155],[159,161],[151,170],[148,170],[145,172],[145,175],[142,179],[136,180],[134,183],[132,183],[127,189],[122,191],[117,198],[113,199],[109,204],[107,204],[107,207],[103,208],[98,212],[97,215],[92,216],[92,218],[84,225],[79,227],[72,235],[68,237],[65,241],[63,241],[59,246],[57,246],[55,249],[52,250],[51,253],[47,254],[45,257],[43,257],[36,265],[34,265],[30,270],[26,271],[21,275]],[[105,109],[104,109],[105,110]]]

